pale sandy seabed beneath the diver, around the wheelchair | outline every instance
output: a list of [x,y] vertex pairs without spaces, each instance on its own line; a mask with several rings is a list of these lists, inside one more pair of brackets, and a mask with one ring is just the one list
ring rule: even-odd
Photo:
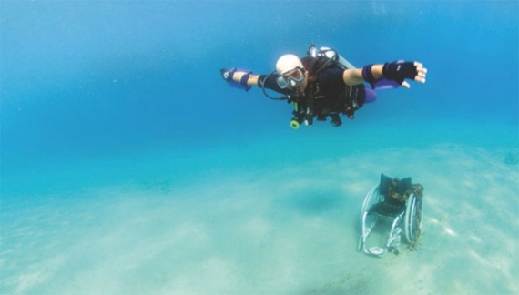
[[[352,151],[178,184],[4,198],[2,294],[517,294],[517,148]],[[424,188],[418,249],[357,251],[380,173]]]

